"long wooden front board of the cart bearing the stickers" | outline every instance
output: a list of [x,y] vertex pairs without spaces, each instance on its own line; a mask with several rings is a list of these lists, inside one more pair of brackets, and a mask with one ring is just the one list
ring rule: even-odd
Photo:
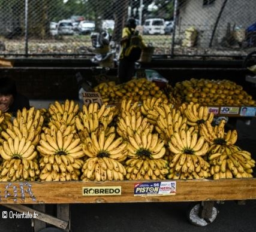
[[[170,182],[174,180],[165,180]],[[149,183],[155,181],[143,181]],[[156,181],[157,182],[157,181]],[[2,203],[8,204],[62,204],[62,203],[118,203],[118,202],[192,202],[206,200],[246,200],[256,199],[256,178],[234,179],[192,179],[177,180],[176,194],[172,196],[134,196],[134,185],[141,181],[106,182],[29,182],[29,191],[25,188],[25,197],[14,199],[10,188],[10,197],[2,197]],[[0,182],[0,191],[4,192],[8,182]],[[19,182],[12,182],[17,185]],[[121,195],[83,196],[83,187],[121,187]],[[29,194],[28,194],[29,192]]]

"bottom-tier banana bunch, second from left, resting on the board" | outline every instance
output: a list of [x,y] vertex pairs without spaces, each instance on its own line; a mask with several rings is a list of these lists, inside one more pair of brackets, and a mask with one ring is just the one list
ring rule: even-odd
[[83,160],[69,154],[46,155],[40,158],[41,181],[78,181]]

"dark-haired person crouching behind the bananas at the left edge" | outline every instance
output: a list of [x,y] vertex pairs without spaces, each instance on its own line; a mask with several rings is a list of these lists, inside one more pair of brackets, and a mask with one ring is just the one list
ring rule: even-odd
[[10,78],[0,78],[0,110],[16,116],[17,110],[30,108],[29,99],[17,92],[16,83]]

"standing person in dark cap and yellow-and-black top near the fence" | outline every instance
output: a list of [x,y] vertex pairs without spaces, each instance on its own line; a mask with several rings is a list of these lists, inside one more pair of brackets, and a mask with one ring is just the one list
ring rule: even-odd
[[[119,66],[118,66],[118,78],[120,83],[125,83],[134,77],[135,74],[135,60],[128,59],[125,57],[125,50],[127,49],[129,39],[134,33],[138,33],[136,28],[136,21],[134,18],[129,18],[125,24],[124,29],[122,30],[122,39],[121,39],[121,52],[119,56]],[[143,42],[141,35],[138,35],[140,39],[141,49],[145,48],[146,45]]]

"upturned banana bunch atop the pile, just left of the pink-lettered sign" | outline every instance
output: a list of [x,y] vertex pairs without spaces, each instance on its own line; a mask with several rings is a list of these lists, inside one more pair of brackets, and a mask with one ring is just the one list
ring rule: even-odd
[[188,119],[188,124],[194,127],[198,127],[198,125],[205,123],[205,121],[212,123],[214,117],[213,112],[209,114],[207,106],[202,106],[199,103],[183,103],[180,106],[180,111]]

